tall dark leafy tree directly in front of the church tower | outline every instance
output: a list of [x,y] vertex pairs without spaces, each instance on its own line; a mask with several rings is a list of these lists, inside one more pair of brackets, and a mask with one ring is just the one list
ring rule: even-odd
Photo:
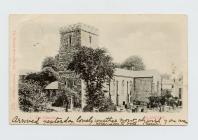
[[74,71],[84,80],[86,85],[85,111],[93,111],[94,108],[105,111],[106,98],[102,90],[103,84],[113,77],[114,64],[112,58],[104,49],[92,49],[80,47],[68,66],[68,70]]

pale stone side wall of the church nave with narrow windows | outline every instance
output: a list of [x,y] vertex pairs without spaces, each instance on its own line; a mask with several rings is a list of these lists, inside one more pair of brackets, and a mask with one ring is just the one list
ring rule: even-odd
[[142,101],[149,96],[160,96],[161,86],[154,79],[156,79],[155,76],[126,77],[123,75],[114,75],[110,84],[106,83],[104,85],[105,90],[108,91],[106,95],[109,96],[110,94],[113,103],[118,106],[133,103],[133,100]]

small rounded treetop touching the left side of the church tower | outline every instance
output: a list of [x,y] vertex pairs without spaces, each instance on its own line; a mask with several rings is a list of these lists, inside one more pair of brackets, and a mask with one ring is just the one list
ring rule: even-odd
[[42,62],[41,68],[44,69],[46,67],[51,67],[53,70],[57,71],[58,70],[57,59],[58,59],[57,56],[55,56],[55,58],[54,57],[46,57]]

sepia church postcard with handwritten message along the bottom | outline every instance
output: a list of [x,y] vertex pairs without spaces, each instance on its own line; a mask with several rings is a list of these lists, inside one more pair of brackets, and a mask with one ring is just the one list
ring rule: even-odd
[[187,16],[9,17],[10,124],[187,125]]

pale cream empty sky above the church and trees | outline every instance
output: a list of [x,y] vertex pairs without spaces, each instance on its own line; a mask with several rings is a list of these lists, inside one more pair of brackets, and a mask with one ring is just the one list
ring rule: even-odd
[[16,63],[19,71],[39,71],[47,56],[60,47],[59,29],[84,23],[99,30],[99,46],[116,63],[141,56],[146,69],[180,73],[187,64],[187,24],[183,15],[15,15],[11,30],[17,32]]

